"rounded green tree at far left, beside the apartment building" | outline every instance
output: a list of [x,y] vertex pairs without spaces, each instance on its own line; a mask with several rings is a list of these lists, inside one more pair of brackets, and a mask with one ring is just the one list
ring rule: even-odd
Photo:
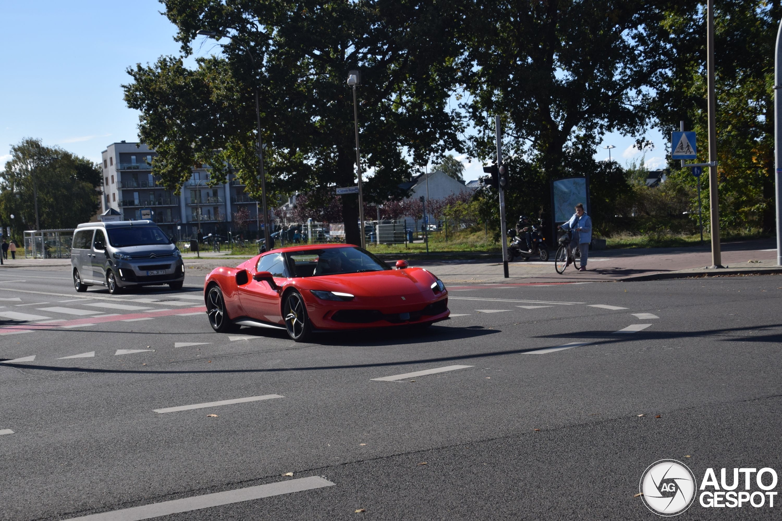
[[99,165],[41,140],[24,139],[11,147],[11,159],[0,172],[0,219],[10,226],[14,214],[17,236],[23,227],[74,228],[100,208],[101,185]]

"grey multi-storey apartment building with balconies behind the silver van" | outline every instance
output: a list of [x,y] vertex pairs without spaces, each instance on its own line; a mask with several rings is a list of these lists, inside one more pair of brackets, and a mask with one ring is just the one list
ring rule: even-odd
[[246,235],[257,233],[256,200],[246,193],[245,185],[229,175],[228,183],[207,186],[210,172],[206,167],[192,169],[192,176],[179,195],[160,186],[152,176],[152,159],[156,152],[143,143],[112,143],[102,152],[102,212],[113,208],[123,219],[152,219],[170,237],[236,233],[232,226],[235,212],[249,210],[252,223]]

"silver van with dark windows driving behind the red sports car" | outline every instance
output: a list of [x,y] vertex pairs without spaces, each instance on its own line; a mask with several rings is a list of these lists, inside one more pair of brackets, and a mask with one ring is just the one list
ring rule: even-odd
[[148,220],[80,224],[74,232],[70,265],[79,292],[104,286],[117,294],[124,287],[153,284],[178,290],[185,282],[179,249]]

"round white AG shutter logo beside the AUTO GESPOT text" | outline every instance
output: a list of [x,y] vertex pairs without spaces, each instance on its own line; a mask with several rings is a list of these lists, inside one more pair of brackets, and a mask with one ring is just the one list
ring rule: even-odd
[[640,477],[641,499],[658,516],[678,516],[695,499],[695,475],[682,462],[661,459]]

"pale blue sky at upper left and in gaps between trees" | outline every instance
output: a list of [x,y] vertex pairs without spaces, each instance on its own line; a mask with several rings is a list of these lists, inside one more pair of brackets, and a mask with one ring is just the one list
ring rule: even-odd
[[[24,137],[99,161],[106,145],[136,141],[138,113],[122,99],[125,70],[178,54],[174,26],[156,0],[134,2],[0,2],[0,164]],[[211,46],[204,46],[209,50]],[[648,136],[656,148],[646,152],[654,168],[665,157],[662,136]],[[622,165],[640,152],[633,139],[608,135],[612,157]],[[608,158],[603,149],[597,159]],[[465,158],[465,178],[482,175],[479,162]]]

